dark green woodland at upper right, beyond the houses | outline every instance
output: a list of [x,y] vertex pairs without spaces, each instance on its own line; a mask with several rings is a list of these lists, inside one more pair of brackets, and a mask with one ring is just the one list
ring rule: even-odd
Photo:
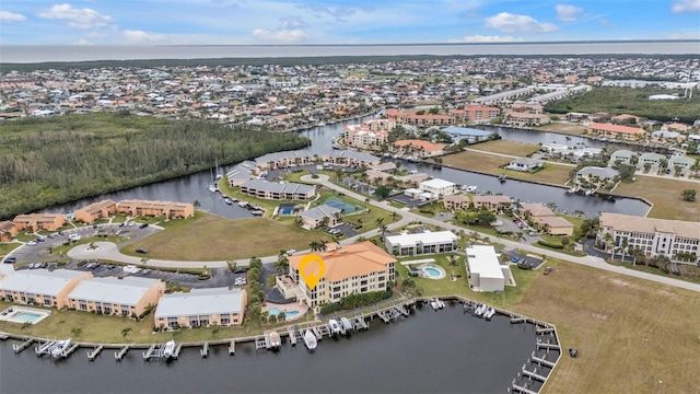
[[[653,94],[678,94],[678,100],[649,100]],[[670,91],[660,88],[594,88],[584,94],[547,103],[545,111],[553,114],[569,112],[596,113],[607,112],[611,115],[630,114],[648,119],[679,121],[692,124],[700,117],[700,94],[695,92],[690,100],[682,99],[684,91]]]

